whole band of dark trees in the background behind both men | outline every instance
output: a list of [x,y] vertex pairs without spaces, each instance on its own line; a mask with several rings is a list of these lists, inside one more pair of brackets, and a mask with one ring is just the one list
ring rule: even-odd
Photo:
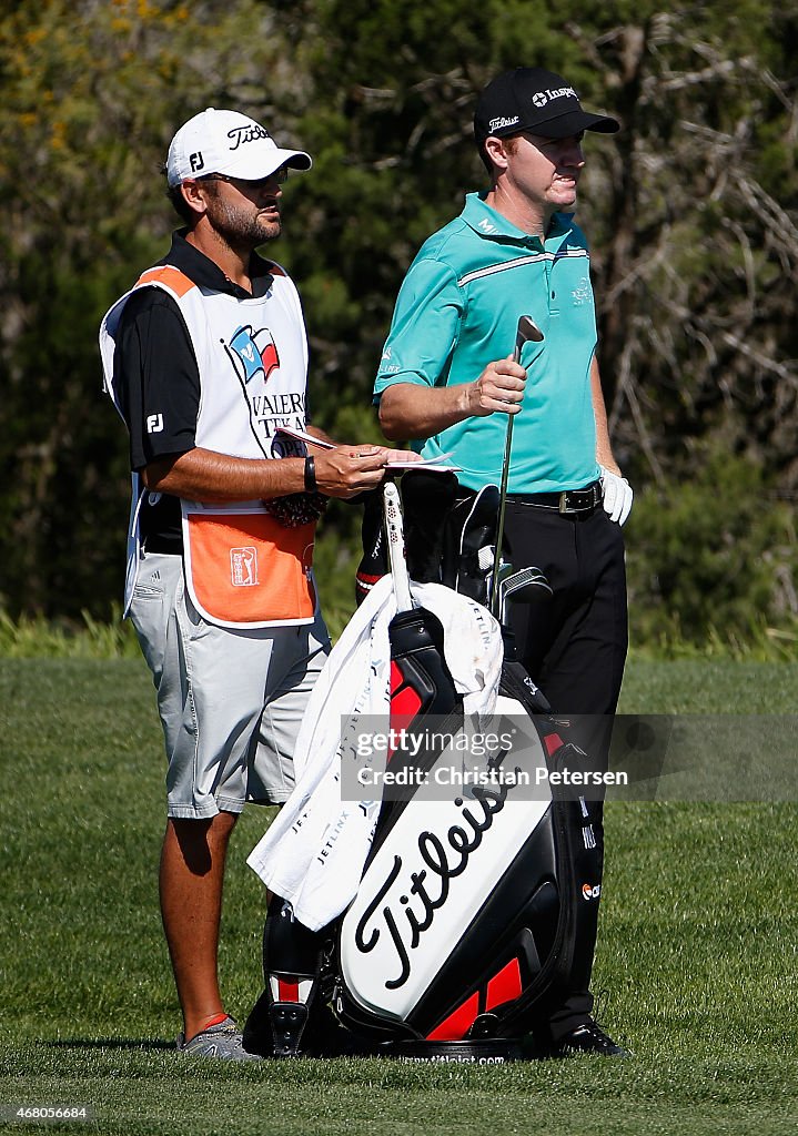
[[[209,105],[240,107],[314,154],[311,176],[289,182],[269,251],[304,298],[314,416],[346,437],[376,431],[371,384],[409,261],[484,184],[476,93],[519,64],[573,77],[585,103],[623,124],[589,140],[580,218],[615,449],[635,487],[650,486],[630,545],[635,525],[665,538],[647,510],[706,484],[709,450],[756,471],[712,466],[715,492],[747,494],[746,508],[796,491],[788,9],[51,0],[0,12],[0,603],[11,612],[103,616],[118,595],[126,461],[97,393],[97,325],[163,254],[172,217],[157,169],[175,126]],[[350,573],[357,510],[331,509],[326,526]],[[319,551],[331,569],[339,551],[324,537]],[[695,562],[680,563],[683,577]],[[795,616],[793,568],[782,557],[768,577],[774,619]],[[634,582],[641,604],[682,604],[684,591],[665,596],[650,578]],[[733,602],[760,607],[747,587],[743,574]],[[342,575],[342,603],[348,588]]]

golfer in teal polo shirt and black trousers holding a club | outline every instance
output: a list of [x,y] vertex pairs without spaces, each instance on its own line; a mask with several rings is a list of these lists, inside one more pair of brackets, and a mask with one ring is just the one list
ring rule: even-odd
[[[514,604],[512,629],[532,678],[602,762],[626,657],[621,525],[632,491],[609,442],[590,257],[574,210],[584,132],[617,130],[548,70],[516,68],[485,87],[474,134],[490,189],[468,194],[418,252],[374,386],[385,435],[424,457],[451,454],[466,499],[500,483],[515,416],[504,553],[516,570],[542,569],[552,596]],[[543,337],[514,362],[521,316]],[[602,851],[601,802],[592,822]],[[552,1055],[626,1052],[592,1017],[598,899],[593,910],[545,1024]]]

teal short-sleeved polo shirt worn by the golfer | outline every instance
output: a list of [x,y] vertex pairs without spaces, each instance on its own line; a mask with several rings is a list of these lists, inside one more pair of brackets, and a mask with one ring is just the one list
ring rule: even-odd
[[[431,236],[397,298],[374,384],[472,383],[515,346],[519,316],[543,333],[521,357],[527,379],[513,426],[508,492],[579,488],[596,481],[590,365],[596,309],[590,257],[572,215],[555,214],[545,242],[469,193],[459,217]],[[423,457],[450,453],[463,485],[499,484],[507,416],[467,418],[426,442]]]

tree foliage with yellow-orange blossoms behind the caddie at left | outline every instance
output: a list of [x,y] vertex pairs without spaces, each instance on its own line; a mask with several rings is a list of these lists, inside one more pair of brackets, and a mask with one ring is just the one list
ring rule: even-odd
[[100,395],[99,321],[168,247],[159,169],[176,126],[214,102],[271,117],[267,100],[294,89],[276,23],[241,0],[36,0],[0,18],[0,603],[13,613],[107,616],[119,595],[130,478]]

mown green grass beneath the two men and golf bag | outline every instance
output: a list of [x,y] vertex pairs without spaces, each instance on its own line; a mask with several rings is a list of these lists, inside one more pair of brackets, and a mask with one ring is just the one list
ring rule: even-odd
[[[791,712],[797,686],[787,663],[638,660],[622,709]],[[795,803],[608,805],[595,985],[631,1061],[219,1068],[169,1047],[161,740],[143,663],[0,659],[0,1104],[86,1104],[91,1130],[132,1136],[798,1128]],[[264,900],[244,860],[269,815],[246,813],[231,853],[221,970],[239,1016],[260,988]]]

